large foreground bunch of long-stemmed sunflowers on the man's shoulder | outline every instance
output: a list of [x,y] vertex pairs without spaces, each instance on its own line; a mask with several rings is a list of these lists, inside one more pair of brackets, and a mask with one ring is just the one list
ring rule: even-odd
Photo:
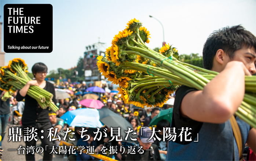
[[[179,61],[178,50],[165,44],[159,52],[147,47],[149,31],[131,19],[126,29],[115,35],[105,56],[98,56],[99,71],[120,85],[125,103],[139,107],[162,106],[179,85],[202,90],[218,72]],[[256,77],[245,76],[245,97],[238,117],[256,127]]]

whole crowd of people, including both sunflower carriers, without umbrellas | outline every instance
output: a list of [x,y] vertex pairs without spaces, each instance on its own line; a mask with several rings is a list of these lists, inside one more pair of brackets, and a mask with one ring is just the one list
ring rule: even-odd
[[[53,132],[60,133],[60,136],[63,136],[61,134],[63,129],[71,129],[75,135],[70,137],[76,138],[72,144],[94,146],[95,150],[100,150],[103,146],[117,147],[114,155],[102,153],[116,160],[240,160],[243,158],[242,152],[245,150],[245,144],[250,147],[247,160],[255,159],[253,152],[256,151],[256,129],[234,116],[244,98],[245,76],[256,73],[255,49],[256,37],[240,25],[217,30],[208,37],[203,50],[204,66],[206,69],[219,72],[219,74],[203,90],[184,85],[178,88],[173,104],[172,122],[160,120],[156,125],[158,138],[163,138],[163,128],[183,129],[173,131],[177,136],[181,136],[175,141],[164,142],[150,139],[152,133],[148,132],[151,131],[150,121],[159,114],[160,110],[168,109],[169,106],[136,108],[124,104],[118,94],[102,94],[99,98],[105,104],[102,108],[110,109],[130,122],[131,127],[138,134],[138,142],[134,144],[136,150],[145,150],[144,153],[121,153],[119,147],[125,147],[126,143],[115,139],[110,141],[111,127],[103,126],[100,131],[105,130],[106,136],[94,140],[92,138],[95,137],[95,128],[70,127],[65,120],[62,120],[61,117],[67,111],[88,108],[79,104],[88,87],[85,82],[82,84],[67,82],[54,87],[53,84],[44,80],[47,66],[43,63],[36,63],[32,67],[35,80],[29,81],[21,90],[17,91],[13,99],[4,102],[1,100],[2,139],[7,124],[4,120],[9,118],[10,104],[16,105],[17,102],[22,102],[25,98],[25,103],[17,106],[15,110],[17,112],[14,113],[15,116],[22,114],[23,129],[34,127],[41,131],[52,128]],[[52,100],[59,110],[54,113],[48,109],[41,109],[36,100],[26,95],[31,85],[38,85],[54,94]],[[71,98],[56,100],[54,88],[66,88],[74,93]],[[1,91],[1,97],[3,94],[4,92]],[[171,98],[171,96],[169,97]],[[237,125],[231,124],[231,122],[237,122]],[[81,137],[85,129],[87,130],[86,134],[90,136],[87,141]],[[182,135],[184,129],[191,131],[191,133],[189,132],[190,139]],[[237,131],[236,135],[233,134],[234,131]],[[240,139],[237,135],[240,136]],[[49,142],[44,133],[40,134],[39,138],[43,146],[58,146],[58,142]],[[32,145],[36,146],[36,142],[26,142],[26,146]],[[0,152],[2,150],[0,149]],[[43,160],[52,160],[52,154],[49,152],[49,150],[44,152]],[[34,155],[26,154],[26,160],[34,160]],[[97,160],[97,158],[85,153],[78,153],[70,155],[69,160]]]

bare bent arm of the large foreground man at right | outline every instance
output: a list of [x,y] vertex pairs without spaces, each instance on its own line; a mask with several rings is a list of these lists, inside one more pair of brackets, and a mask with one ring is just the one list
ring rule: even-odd
[[200,122],[226,122],[244,98],[245,74],[250,75],[242,62],[227,63],[202,91],[184,96],[180,106],[182,116]]

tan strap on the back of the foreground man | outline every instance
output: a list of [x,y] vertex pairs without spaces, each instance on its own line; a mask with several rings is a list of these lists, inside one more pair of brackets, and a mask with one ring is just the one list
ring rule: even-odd
[[242,136],[240,129],[238,127],[237,121],[235,120],[234,115],[230,117],[230,123],[233,130],[233,134],[235,136],[235,141],[237,142],[238,152],[239,152],[239,160],[243,158],[242,155]]

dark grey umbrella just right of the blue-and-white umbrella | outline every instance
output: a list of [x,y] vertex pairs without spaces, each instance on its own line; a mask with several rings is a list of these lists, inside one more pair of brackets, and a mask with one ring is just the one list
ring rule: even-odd
[[131,137],[137,138],[138,137],[137,134],[132,135],[131,133],[129,133],[128,139],[125,140],[127,133],[124,131],[128,131],[128,128],[131,128],[133,130],[132,125],[125,118],[123,118],[119,114],[114,113],[113,111],[107,108],[98,109],[98,111],[99,111],[100,121],[103,124],[105,124],[107,127],[109,128],[120,127],[120,136],[122,136],[123,142],[136,143],[131,140]]

